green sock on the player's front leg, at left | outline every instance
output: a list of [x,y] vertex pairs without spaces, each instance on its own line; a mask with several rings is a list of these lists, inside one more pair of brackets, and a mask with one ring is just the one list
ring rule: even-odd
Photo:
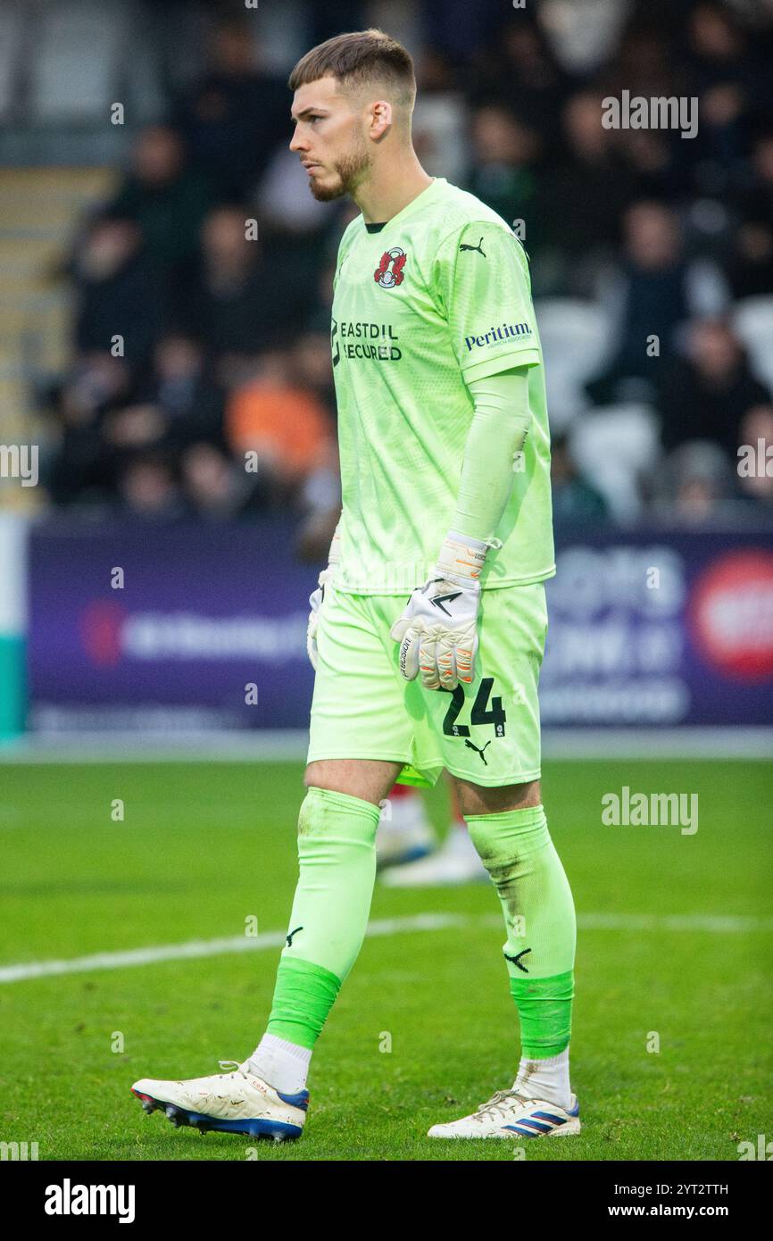
[[309,788],[298,817],[300,876],[267,1034],[313,1047],[365,938],[381,809]]

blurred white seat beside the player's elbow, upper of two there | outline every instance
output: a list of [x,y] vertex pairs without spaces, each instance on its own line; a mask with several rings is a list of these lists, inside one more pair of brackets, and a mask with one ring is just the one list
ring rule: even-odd
[[579,298],[542,298],[535,303],[535,313],[551,427],[563,431],[588,406],[583,385],[609,354],[610,324],[602,307]]

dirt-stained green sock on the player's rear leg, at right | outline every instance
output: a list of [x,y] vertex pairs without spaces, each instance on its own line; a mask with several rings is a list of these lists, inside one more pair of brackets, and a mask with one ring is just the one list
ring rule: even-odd
[[510,993],[530,1060],[568,1046],[577,923],[572,891],[541,805],[464,815],[505,916]]

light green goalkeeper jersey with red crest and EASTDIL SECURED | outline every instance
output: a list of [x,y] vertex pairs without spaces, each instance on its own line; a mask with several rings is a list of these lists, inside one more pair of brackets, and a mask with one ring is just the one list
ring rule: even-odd
[[474,408],[467,383],[515,366],[529,369],[531,427],[480,583],[552,577],[542,350],[524,248],[505,221],[442,176],[386,225],[359,215],[339,246],[331,349],[335,586],[402,594],[427,581],[459,494]]

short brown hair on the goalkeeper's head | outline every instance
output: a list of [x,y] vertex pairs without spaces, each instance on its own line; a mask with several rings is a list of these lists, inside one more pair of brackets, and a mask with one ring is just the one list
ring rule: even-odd
[[288,78],[290,91],[323,77],[335,77],[344,89],[359,91],[370,83],[383,82],[392,88],[395,103],[408,117],[416,102],[413,60],[402,43],[383,30],[355,30],[335,35],[298,61]]

